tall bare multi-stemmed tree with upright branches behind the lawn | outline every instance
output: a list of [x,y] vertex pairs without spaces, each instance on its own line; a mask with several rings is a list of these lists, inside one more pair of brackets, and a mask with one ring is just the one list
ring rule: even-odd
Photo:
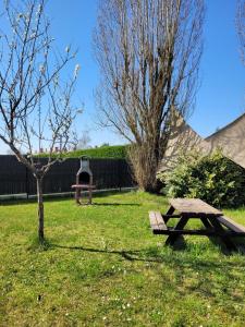
[[174,120],[193,105],[203,21],[203,0],[100,1],[97,99],[103,123],[132,144],[134,174],[144,190],[156,190]]

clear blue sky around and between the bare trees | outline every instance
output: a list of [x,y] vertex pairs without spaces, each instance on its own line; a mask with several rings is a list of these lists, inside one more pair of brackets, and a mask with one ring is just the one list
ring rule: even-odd
[[[196,108],[188,123],[201,136],[208,136],[245,110],[245,68],[238,53],[235,31],[235,0],[207,0],[205,48],[200,65],[200,87]],[[91,36],[96,24],[97,0],[50,0],[47,14],[57,47],[71,44],[78,48],[74,62],[81,64],[76,98],[84,102],[84,113],[76,122],[77,132],[89,131],[91,145],[123,143],[111,131],[95,122],[93,92],[99,72],[93,55]],[[70,68],[71,69],[71,68]],[[0,153],[5,147],[0,144]]]

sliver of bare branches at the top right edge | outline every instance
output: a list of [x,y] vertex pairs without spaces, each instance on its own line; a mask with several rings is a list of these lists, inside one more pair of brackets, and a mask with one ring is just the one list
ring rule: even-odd
[[245,1],[237,1],[236,10],[236,29],[240,39],[241,58],[243,64],[245,64]]

